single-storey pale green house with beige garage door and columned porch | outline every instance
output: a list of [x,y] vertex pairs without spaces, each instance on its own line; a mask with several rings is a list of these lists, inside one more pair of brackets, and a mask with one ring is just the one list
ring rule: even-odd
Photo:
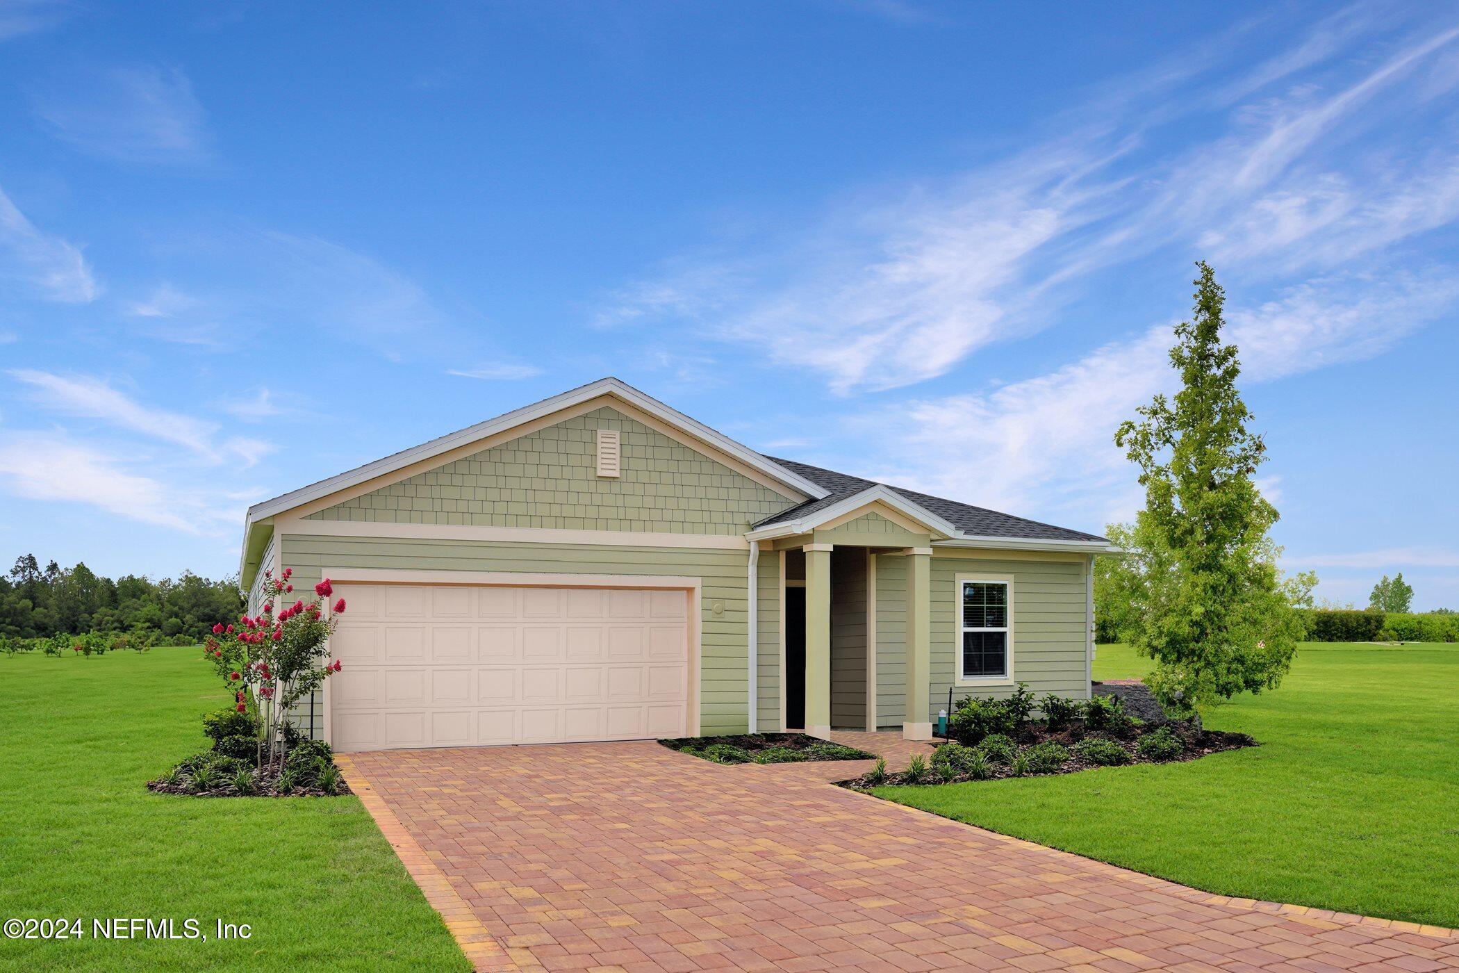
[[[969,484],[976,492],[976,483]],[[616,378],[248,511],[349,607],[296,721],[338,751],[804,728],[1084,699],[1097,535],[776,460]]]

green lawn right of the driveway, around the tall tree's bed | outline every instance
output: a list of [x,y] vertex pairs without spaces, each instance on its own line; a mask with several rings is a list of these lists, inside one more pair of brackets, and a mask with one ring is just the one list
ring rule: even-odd
[[[1100,646],[1096,678],[1144,667]],[[1214,893],[1459,926],[1459,646],[1303,645],[1280,690],[1204,716],[1262,745],[875,792]]]

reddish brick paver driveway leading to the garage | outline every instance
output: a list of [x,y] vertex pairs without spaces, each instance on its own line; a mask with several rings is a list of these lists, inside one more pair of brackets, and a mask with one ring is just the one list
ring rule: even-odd
[[481,969],[1459,966],[1444,931],[1217,899],[827,786],[862,763],[654,743],[341,763]]

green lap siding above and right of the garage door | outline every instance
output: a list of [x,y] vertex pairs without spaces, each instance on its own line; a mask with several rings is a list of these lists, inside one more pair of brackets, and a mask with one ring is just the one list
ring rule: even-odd
[[[699,578],[702,732],[746,731],[747,551],[302,534],[286,534],[282,547],[299,591],[312,591],[324,567]],[[715,602],[722,614],[713,613]]]

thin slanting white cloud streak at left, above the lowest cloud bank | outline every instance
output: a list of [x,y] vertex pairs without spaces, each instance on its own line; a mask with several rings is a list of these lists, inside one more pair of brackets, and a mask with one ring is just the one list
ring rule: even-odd
[[150,439],[184,446],[209,462],[235,458],[252,465],[273,449],[261,439],[220,439],[217,423],[143,406],[102,379],[53,375],[35,369],[15,369],[9,373],[32,389],[36,403],[55,413],[96,419]]

